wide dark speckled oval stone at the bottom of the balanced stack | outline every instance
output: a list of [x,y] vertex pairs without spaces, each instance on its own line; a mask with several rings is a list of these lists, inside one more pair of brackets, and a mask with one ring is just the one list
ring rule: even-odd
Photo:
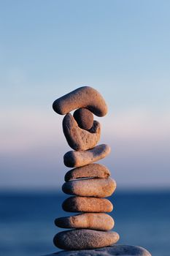
[[53,241],[60,249],[93,249],[115,244],[119,240],[116,232],[96,230],[68,230],[55,235]]

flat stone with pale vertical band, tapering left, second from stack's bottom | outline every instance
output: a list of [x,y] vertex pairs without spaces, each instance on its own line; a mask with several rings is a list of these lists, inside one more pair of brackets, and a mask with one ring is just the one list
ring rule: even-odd
[[63,228],[88,228],[90,230],[112,230],[114,220],[108,214],[77,214],[55,219],[55,225]]

